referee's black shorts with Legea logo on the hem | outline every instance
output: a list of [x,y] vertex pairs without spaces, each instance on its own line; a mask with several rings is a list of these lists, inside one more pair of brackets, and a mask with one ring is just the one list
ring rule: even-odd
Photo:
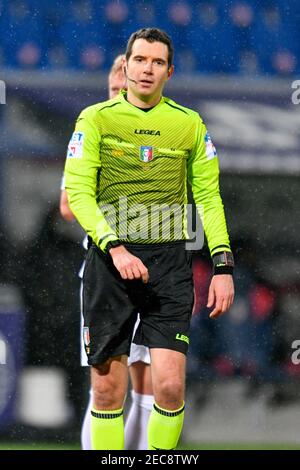
[[187,353],[193,307],[191,252],[185,243],[126,245],[149,271],[149,282],[123,280],[110,255],[89,248],[83,275],[84,344],[90,365],[129,355],[133,342]]

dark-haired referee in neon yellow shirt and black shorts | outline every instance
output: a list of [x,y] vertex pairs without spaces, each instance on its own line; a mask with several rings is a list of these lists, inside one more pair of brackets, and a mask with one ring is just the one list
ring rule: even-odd
[[165,32],[133,33],[124,61],[127,92],[83,110],[68,147],[66,190],[90,239],[83,314],[94,449],[124,448],[127,356],[137,312],[133,341],[150,348],[155,397],[148,447],[176,448],[193,307],[187,178],[214,265],[211,318],[233,302],[234,263],[216,150],[200,116],[162,96],[173,70]]

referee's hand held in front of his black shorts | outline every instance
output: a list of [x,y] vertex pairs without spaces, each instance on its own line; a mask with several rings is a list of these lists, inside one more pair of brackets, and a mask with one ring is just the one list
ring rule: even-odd
[[142,279],[144,283],[149,281],[149,273],[140,258],[132,255],[125,246],[120,245],[109,250],[113,263],[119,271],[122,279]]

